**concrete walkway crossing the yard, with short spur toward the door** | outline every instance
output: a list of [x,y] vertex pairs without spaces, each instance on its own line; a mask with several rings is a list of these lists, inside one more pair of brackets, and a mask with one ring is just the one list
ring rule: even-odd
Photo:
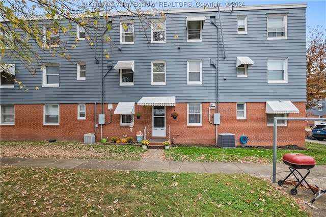
[[[1,167],[55,167],[66,169],[100,169],[128,171],[159,171],[159,172],[197,172],[197,173],[245,173],[248,175],[271,179],[272,164],[248,164],[229,162],[181,162],[164,161],[162,149],[148,149],[141,160],[98,160],[98,159],[55,159],[55,158],[8,158],[2,157]],[[301,169],[302,175],[306,169]],[[309,184],[318,184],[326,188],[326,166],[315,166],[306,180]],[[277,165],[276,181],[284,179],[290,173],[285,164]],[[289,179],[295,180],[292,176]]]

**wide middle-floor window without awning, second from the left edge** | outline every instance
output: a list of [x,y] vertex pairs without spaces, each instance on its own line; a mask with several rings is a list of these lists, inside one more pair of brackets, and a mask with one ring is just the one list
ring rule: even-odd
[[59,87],[59,64],[43,65],[42,87]]

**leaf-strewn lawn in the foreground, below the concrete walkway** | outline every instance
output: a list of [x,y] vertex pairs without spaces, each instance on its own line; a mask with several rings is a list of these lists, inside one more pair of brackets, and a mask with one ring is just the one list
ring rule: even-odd
[[1,168],[1,216],[309,216],[246,174]]

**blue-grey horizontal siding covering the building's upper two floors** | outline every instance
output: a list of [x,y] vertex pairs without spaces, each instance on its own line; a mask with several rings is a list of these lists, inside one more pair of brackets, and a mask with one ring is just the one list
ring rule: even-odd
[[[246,7],[244,7],[245,9]],[[217,11],[197,10],[194,13],[168,13],[166,16],[166,43],[150,42],[150,25],[147,36],[139,29],[139,20],[134,20],[134,44],[120,45],[118,17],[113,17],[114,26],[108,33],[112,42],[103,42],[103,49],[110,51],[110,59],[103,55],[101,65],[101,41],[92,48],[87,40],[80,40],[76,48],[75,28],[60,39],[67,43],[71,61],[64,58],[42,55],[43,63],[60,65],[60,87],[42,88],[41,66],[32,76],[17,60],[4,58],[8,64],[16,63],[16,78],[29,88],[1,89],[2,104],[19,103],[93,103],[101,100],[101,77],[107,72],[107,62],[113,66],[118,61],[134,61],[134,86],[119,86],[120,75],[112,68],[104,77],[104,102],[137,102],[143,96],[176,96],[176,102],[215,101],[215,68],[210,59],[219,56],[219,100],[220,102],[265,102],[266,100],[306,101],[306,23],[305,6],[287,9],[241,10],[223,12],[221,21],[224,38],[223,55],[221,31],[210,24],[210,17],[220,27]],[[267,40],[267,13],[287,15],[287,39]],[[202,42],[187,42],[186,16],[206,16],[202,30]],[[248,34],[237,34],[237,16],[247,15]],[[75,24],[73,25],[75,26]],[[104,32],[102,30],[101,32]],[[87,35],[87,34],[86,34]],[[98,34],[100,35],[100,33]],[[178,36],[175,38],[175,36]],[[218,48],[219,38],[219,48]],[[68,46],[69,45],[69,46]],[[180,46],[180,49],[177,47]],[[121,51],[118,50],[121,47]],[[96,53],[95,53],[96,49]],[[218,54],[218,49],[220,53]],[[96,64],[95,57],[100,61]],[[254,64],[248,68],[248,77],[237,77],[236,57],[250,57]],[[288,84],[267,84],[267,58],[288,59]],[[151,61],[166,61],[166,85],[151,85]],[[202,61],[202,85],[187,85],[187,61]],[[76,80],[76,63],[86,63],[86,80]],[[101,72],[101,68],[103,69]],[[226,78],[226,79],[224,79]],[[39,87],[35,90],[34,87]]]

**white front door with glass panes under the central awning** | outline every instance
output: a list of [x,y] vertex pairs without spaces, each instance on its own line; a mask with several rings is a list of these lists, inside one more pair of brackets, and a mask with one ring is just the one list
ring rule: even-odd
[[152,137],[166,137],[165,106],[153,106]]

